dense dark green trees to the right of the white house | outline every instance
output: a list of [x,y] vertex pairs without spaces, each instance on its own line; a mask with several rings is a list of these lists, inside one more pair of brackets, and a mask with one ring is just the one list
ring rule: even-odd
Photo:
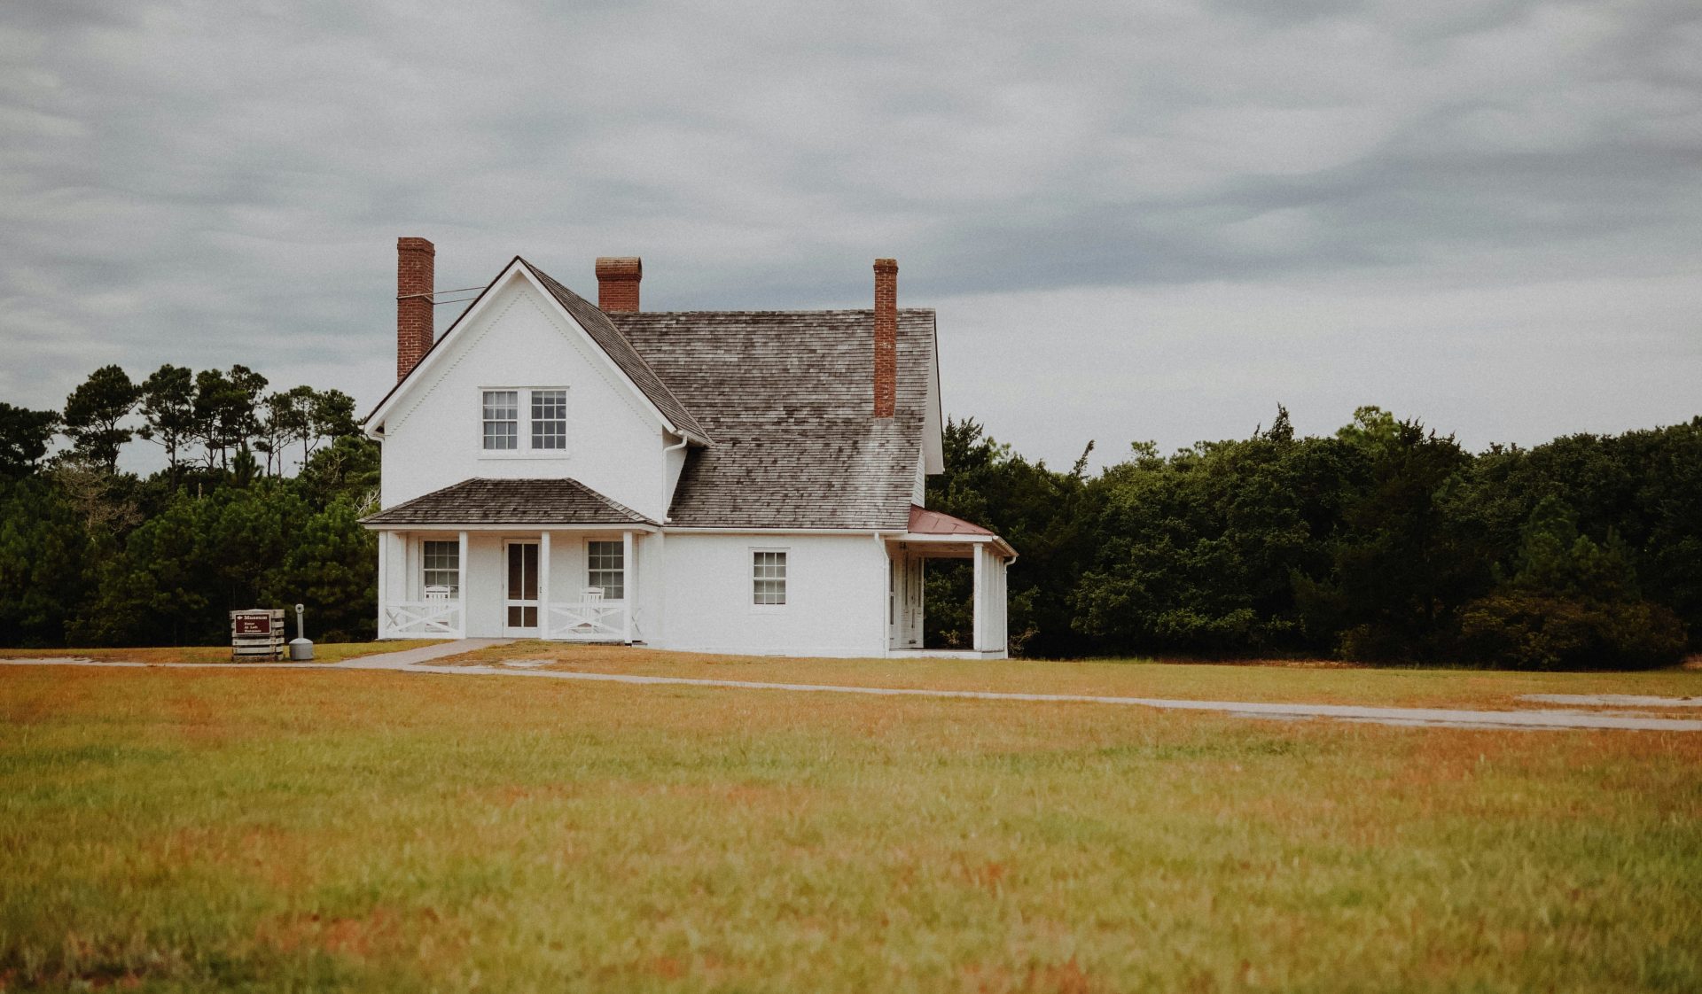
[[[1374,407],[1333,437],[1280,410],[1249,439],[1084,460],[1052,471],[953,420],[929,483],[1021,553],[1026,654],[1631,669],[1702,633],[1702,419],[1472,454]],[[929,575],[929,643],[962,643],[967,584]]]

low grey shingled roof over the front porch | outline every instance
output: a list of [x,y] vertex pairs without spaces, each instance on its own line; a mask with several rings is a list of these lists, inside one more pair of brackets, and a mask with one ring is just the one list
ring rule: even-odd
[[655,524],[579,480],[461,480],[364,524]]

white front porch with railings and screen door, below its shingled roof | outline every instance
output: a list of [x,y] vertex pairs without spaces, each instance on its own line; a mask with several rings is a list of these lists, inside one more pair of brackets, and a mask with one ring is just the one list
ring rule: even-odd
[[643,640],[642,529],[380,529],[380,638]]

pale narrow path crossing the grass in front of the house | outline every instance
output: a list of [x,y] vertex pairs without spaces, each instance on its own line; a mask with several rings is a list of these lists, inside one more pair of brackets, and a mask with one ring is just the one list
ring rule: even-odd
[[[507,645],[505,638],[463,638],[426,648],[408,648],[403,652],[383,652],[349,659],[344,662],[260,662],[238,664],[238,669],[374,669],[393,672],[448,674],[448,676],[529,676],[541,679],[572,679],[596,683],[620,683],[638,686],[698,686],[698,688],[735,688],[757,691],[791,691],[791,693],[825,693],[825,694],[871,694],[885,698],[957,698],[975,701],[1035,701],[1035,703],[1081,703],[1081,705],[1123,705],[1176,711],[1220,711],[1244,718],[1334,718],[1339,722],[1368,722],[1375,725],[1418,725],[1443,728],[1620,728],[1634,732],[1702,732],[1702,720],[1695,718],[1646,718],[1637,715],[1603,715],[1600,711],[1469,711],[1455,708],[1372,708],[1360,705],[1307,705],[1307,703],[1268,703],[1268,701],[1188,701],[1176,698],[1117,698],[1098,694],[1023,694],[1009,691],[951,691],[926,688],[854,688],[834,684],[793,684],[793,683],[759,683],[744,679],[696,679],[683,676],[637,676],[623,672],[572,672],[560,669],[526,669],[512,666],[432,666],[431,660],[448,655],[460,655],[490,645]],[[167,666],[167,667],[231,667],[228,662],[106,662],[90,659],[0,659],[10,666]],[[1581,703],[1581,701],[1579,701]],[[1615,701],[1619,703],[1619,701]]]

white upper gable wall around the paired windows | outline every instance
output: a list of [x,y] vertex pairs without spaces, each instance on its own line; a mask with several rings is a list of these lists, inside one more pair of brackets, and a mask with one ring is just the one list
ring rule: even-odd
[[[381,504],[393,507],[451,483],[572,477],[660,521],[677,470],[662,458],[664,432],[645,402],[574,320],[516,272],[471,323],[434,354],[385,417]],[[482,391],[567,388],[565,453],[487,453]],[[665,483],[664,483],[665,482]]]

